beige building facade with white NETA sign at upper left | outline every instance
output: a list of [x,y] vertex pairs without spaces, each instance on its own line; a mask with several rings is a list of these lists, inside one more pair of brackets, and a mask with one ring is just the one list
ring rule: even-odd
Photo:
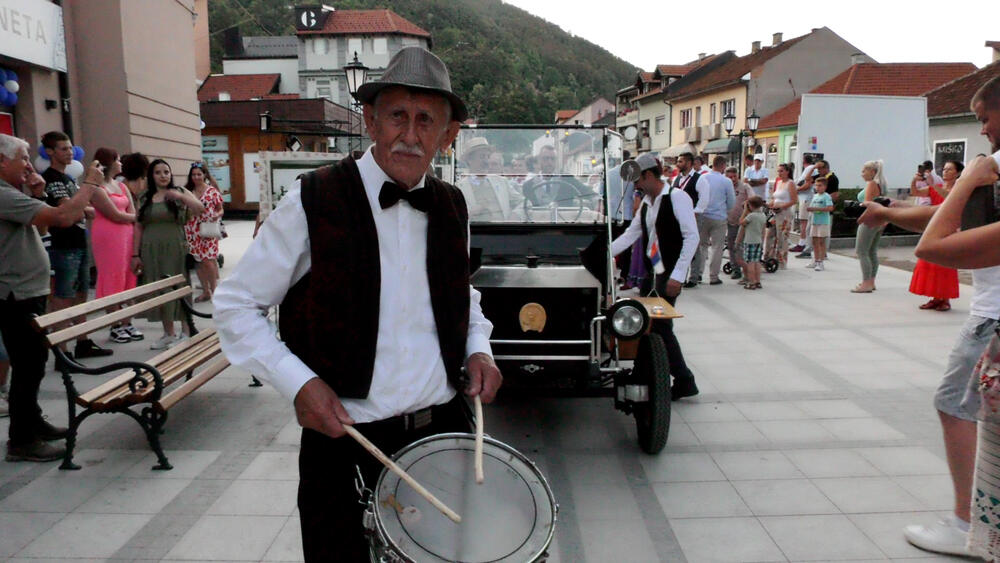
[[[0,132],[37,150],[41,135],[141,151],[176,170],[200,158],[199,61],[208,52],[204,0],[0,0],[0,68],[19,84],[0,100]],[[128,22],[157,22],[149,27]],[[199,45],[206,55],[199,57]],[[202,61],[203,62],[203,61]],[[203,76],[202,76],[203,77]],[[10,103],[10,102],[14,103]]]

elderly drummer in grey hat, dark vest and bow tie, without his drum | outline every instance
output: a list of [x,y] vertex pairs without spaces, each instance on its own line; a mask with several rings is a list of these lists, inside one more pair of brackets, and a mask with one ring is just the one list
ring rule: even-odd
[[391,454],[468,432],[457,391],[490,402],[502,381],[469,283],[465,200],[427,175],[468,116],[447,68],[408,47],[356,97],[374,145],[295,182],[213,299],[230,361],[292,400],[303,426],[307,561],[368,559],[355,467],[372,487],[382,466],[345,425]]

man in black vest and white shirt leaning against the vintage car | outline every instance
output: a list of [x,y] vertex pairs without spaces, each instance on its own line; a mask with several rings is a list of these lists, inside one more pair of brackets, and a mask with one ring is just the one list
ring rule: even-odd
[[[667,188],[661,176],[663,168],[656,158],[643,153],[635,159],[639,164],[640,176],[635,182],[637,192],[643,193],[642,204],[636,211],[636,219],[628,229],[611,243],[611,254],[618,256],[631,251],[637,240],[643,241],[643,256],[649,276],[643,281],[640,293],[649,295],[652,290],[671,305],[677,303],[688,267],[698,247],[698,225],[694,219],[691,196],[683,189]],[[688,160],[690,166],[691,160]],[[650,254],[654,248],[659,254],[662,268],[651,264]],[[656,272],[662,270],[662,273]],[[674,336],[673,321],[653,321],[653,332],[663,338],[670,360],[670,374],[674,376],[671,398],[673,400],[698,394],[694,374],[684,361],[681,345]]]

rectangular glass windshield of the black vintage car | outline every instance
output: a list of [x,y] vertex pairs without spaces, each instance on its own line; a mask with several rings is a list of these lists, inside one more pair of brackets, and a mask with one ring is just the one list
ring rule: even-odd
[[604,223],[604,135],[591,128],[462,129],[452,170],[469,221]]

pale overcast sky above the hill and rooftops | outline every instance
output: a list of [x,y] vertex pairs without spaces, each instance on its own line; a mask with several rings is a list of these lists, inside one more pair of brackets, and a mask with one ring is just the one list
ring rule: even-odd
[[986,41],[1000,41],[998,0],[504,1],[647,71],[689,62],[698,53],[735,49],[746,55],[753,41],[770,45],[775,32],[791,39],[823,26],[880,63],[971,62],[981,68],[992,60]]

